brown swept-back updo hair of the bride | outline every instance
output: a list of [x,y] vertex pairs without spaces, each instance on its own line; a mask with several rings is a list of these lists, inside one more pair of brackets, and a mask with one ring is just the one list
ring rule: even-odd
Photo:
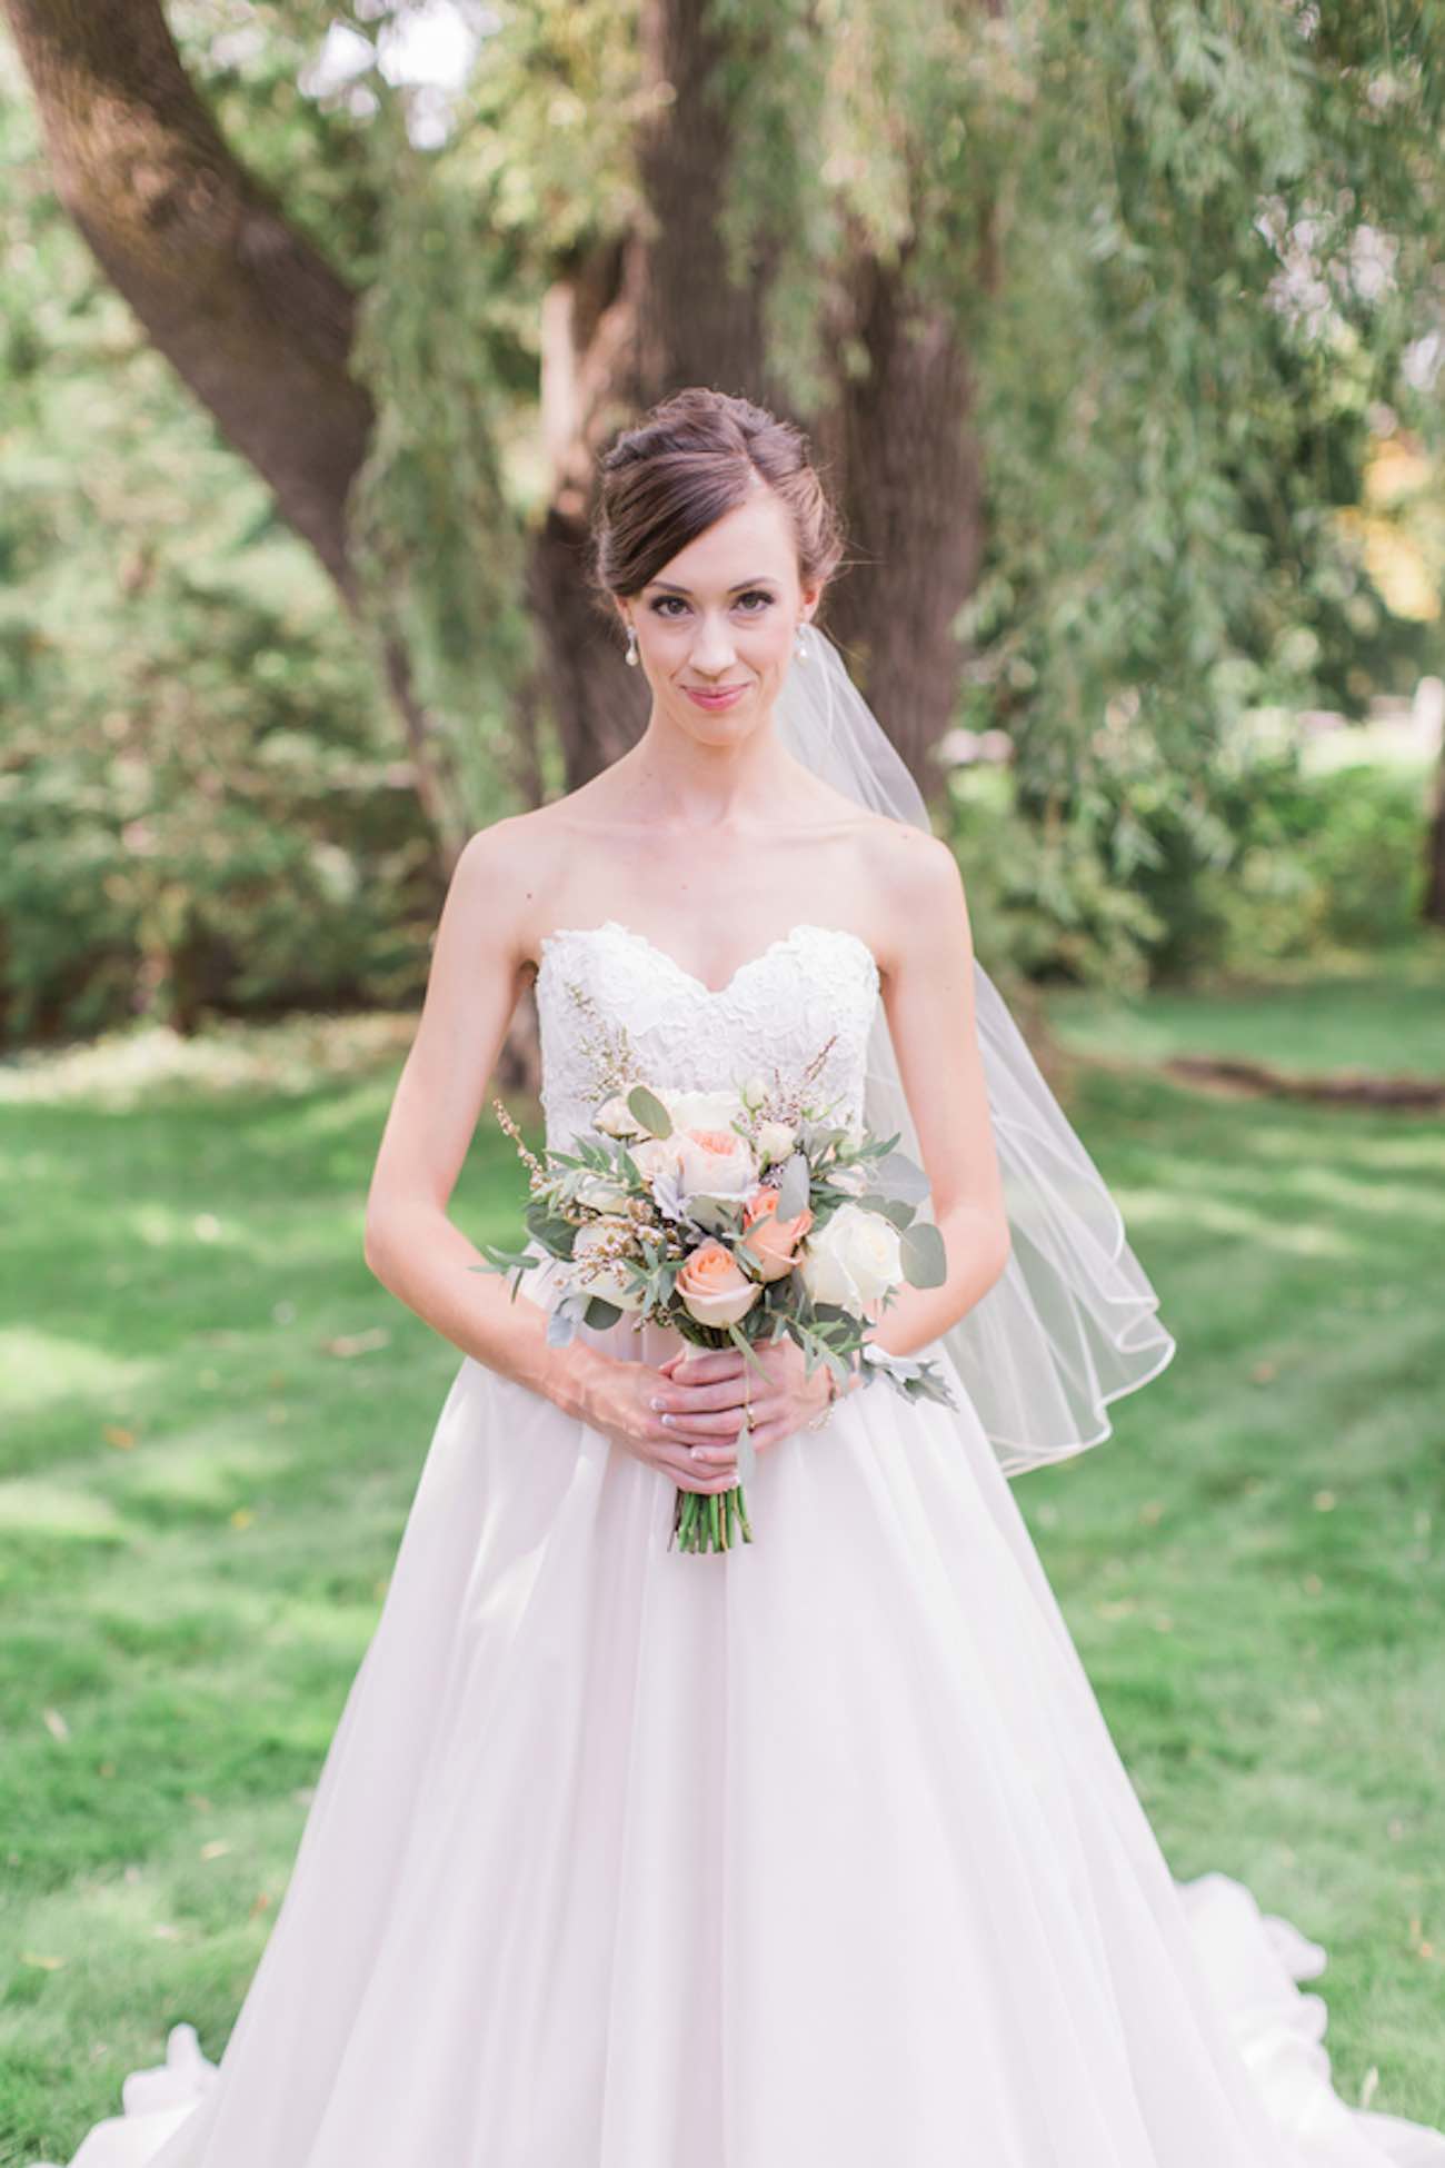
[[591,522],[591,588],[609,620],[617,624],[613,596],[639,594],[669,557],[741,505],[758,475],[793,520],[799,583],[825,583],[843,557],[843,522],[795,423],[752,399],[689,384],[613,438],[600,457]]

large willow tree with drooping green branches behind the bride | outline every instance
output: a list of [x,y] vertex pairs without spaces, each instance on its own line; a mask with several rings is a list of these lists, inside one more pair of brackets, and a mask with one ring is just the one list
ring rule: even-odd
[[594,462],[689,382],[810,429],[830,624],[925,785],[1001,720],[1122,865],[1131,793],[1207,848],[1228,718],[1378,607],[1330,514],[1371,401],[1430,418],[1434,0],[503,0],[427,147],[366,78],[362,295],[217,128],[206,9],[184,61],[158,0],[4,9],[65,202],[377,627],[451,835],[468,761],[535,793],[639,728]]

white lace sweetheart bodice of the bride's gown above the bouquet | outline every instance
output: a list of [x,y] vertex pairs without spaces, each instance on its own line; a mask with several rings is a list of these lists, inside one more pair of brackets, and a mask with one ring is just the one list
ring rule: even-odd
[[862,1121],[877,960],[838,926],[793,926],[706,986],[620,919],[559,926],[537,967],[546,1143],[565,1151],[626,1071],[674,1091],[724,1091],[747,1075],[795,1077],[832,1041],[817,1091],[836,1121]]

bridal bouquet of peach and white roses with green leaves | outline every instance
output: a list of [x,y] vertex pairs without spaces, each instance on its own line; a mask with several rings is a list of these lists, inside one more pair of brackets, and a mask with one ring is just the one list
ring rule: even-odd
[[[635,1331],[654,1322],[693,1346],[737,1346],[767,1377],[752,1348],[789,1333],[808,1375],[823,1362],[843,1385],[858,1353],[864,1383],[886,1377],[910,1398],[955,1405],[936,1364],[867,1338],[903,1281],[945,1279],[942,1236],[914,1216],[927,1182],[895,1151],[897,1136],[830,1121],[830,1108],[808,1097],[808,1075],[799,1086],[754,1075],[732,1091],[633,1082],[596,1106],[596,1143],[583,1134],[574,1151],[544,1160],[500,1101],[494,1108],[529,1166],[535,1247],[483,1242],[487,1264],[470,1270],[513,1275],[516,1301],[537,1249],[555,1257],[550,1342],[633,1312]],[[728,1550],[739,1528],[752,1541],[743,1489],[752,1468],[743,1429],[737,1485],[678,1487],[672,1537],[682,1550]]]

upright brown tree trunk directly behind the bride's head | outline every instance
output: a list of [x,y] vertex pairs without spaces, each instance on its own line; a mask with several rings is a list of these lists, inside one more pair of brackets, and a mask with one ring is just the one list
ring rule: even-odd
[[[646,685],[622,666],[585,585],[600,440],[685,384],[741,392],[789,414],[769,382],[763,310],[767,236],[745,284],[724,262],[717,206],[726,193],[730,117],[715,89],[719,39],[704,0],[648,0],[650,87],[669,85],[643,128],[639,232],[576,278],[544,310],[542,405],[552,501],[533,544],[531,601],[544,648],[568,789],[613,761],[646,724]],[[767,54],[750,54],[754,67]],[[984,267],[986,269],[986,267]],[[882,267],[860,243],[843,330],[871,373],[847,379],[810,427],[830,462],[867,579],[838,579],[830,633],[875,702],[925,793],[932,748],[953,720],[962,648],[951,627],[973,592],[984,546],[981,457],[971,429],[971,377],[958,332],[906,293],[908,256]]]

